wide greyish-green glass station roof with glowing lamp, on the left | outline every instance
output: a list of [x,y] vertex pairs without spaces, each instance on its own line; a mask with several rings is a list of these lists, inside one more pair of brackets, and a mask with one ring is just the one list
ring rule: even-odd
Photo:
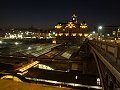
[[20,44],[20,45],[7,45],[0,47],[1,56],[13,57],[38,57],[51,51],[52,48],[60,44]]

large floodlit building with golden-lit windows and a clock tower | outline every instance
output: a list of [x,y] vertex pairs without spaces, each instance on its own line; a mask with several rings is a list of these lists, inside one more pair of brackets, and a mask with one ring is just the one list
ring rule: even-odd
[[79,23],[75,13],[67,23],[57,23],[55,31],[56,43],[80,44],[88,36],[87,23]]

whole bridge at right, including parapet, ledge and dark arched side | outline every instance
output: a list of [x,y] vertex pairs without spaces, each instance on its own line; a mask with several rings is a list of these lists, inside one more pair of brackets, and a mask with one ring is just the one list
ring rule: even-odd
[[87,60],[92,57],[97,64],[103,90],[120,90],[120,45],[114,42],[86,40],[83,46],[88,55]]

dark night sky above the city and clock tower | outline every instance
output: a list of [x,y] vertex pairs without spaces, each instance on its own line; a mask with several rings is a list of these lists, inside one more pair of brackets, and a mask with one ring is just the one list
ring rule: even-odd
[[120,25],[119,0],[0,0],[0,27],[53,28],[74,11],[89,27]]

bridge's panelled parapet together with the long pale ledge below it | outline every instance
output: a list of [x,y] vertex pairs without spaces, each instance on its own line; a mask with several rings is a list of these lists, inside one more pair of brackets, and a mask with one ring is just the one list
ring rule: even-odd
[[120,88],[120,45],[95,40],[89,41],[89,45],[112,74],[114,84]]

